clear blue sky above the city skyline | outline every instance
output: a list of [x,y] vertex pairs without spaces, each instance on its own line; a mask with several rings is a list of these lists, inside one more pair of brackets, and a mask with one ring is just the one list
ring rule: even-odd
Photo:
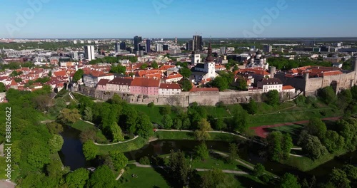
[[[41,2],[40,9],[30,2]],[[356,0],[0,0],[0,4],[0,38],[190,38],[196,32],[203,37],[357,36]],[[272,18],[266,9],[278,10],[278,16]]]

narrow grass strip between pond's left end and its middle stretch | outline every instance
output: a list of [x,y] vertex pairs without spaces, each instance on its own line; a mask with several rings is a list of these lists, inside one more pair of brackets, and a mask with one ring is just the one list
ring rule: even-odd
[[119,150],[121,152],[129,152],[133,150],[138,150],[141,147],[144,147],[146,145],[146,140],[142,137],[138,137],[135,140],[132,140],[131,142],[125,142],[122,144],[118,145],[98,145],[99,147],[99,154],[98,155],[106,155],[109,153],[109,151],[112,150]]

